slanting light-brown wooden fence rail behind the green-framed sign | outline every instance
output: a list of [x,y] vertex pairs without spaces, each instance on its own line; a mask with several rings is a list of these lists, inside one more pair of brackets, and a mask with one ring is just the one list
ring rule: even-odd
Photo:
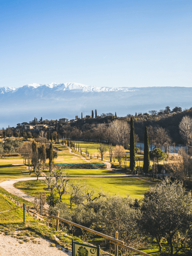
[[[59,214],[57,214],[57,215],[59,215]],[[137,249],[135,249],[135,248],[132,248],[132,247],[127,246],[127,245],[124,245],[124,242],[123,242],[123,241],[118,240],[118,239],[116,239],[116,238],[114,238],[114,237],[107,236],[107,235],[102,234],[102,233],[100,233],[100,232],[98,232],[98,231],[95,231],[95,230],[90,229],[90,228],[86,228],[86,227],[84,227],[84,226],[81,226],[81,225],[76,224],[76,223],[74,223],[74,222],[71,222],[71,221],[69,221],[69,220],[65,220],[65,219],[62,219],[62,218],[60,218],[60,217],[57,217],[57,216],[55,216],[55,215],[51,215],[51,217],[52,217],[53,219],[58,220],[57,227],[59,226],[59,220],[60,220],[60,221],[63,221],[63,222],[65,222],[65,223],[68,223],[68,224],[70,224],[70,225],[72,225],[72,226],[75,226],[75,227],[78,227],[78,228],[82,228],[82,229],[84,229],[84,230],[87,230],[88,232],[91,232],[91,233],[93,233],[93,234],[95,234],[95,235],[105,237],[105,238],[107,238],[107,239],[110,240],[110,243],[115,244],[115,245],[117,245],[117,246],[123,247],[123,248],[128,249],[128,250],[133,251],[133,252],[137,252],[137,253],[139,253],[139,254],[141,254],[141,255],[144,255],[144,256],[152,256],[152,255],[150,255],[150,254],[148,254],[148,253],[146,253],[146,252],[141,252],[141,251],[139,251],[139,250],[137,250]],[[58,229],[57,229],[57,231],[58,231]],[[116,247],[116,248],[118,248],[118,247]]]

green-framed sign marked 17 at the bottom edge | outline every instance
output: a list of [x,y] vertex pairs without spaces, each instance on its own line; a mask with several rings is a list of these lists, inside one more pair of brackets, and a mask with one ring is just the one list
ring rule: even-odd
[[81,244],[72,239],[72,256],[100,256],[100,246]]

